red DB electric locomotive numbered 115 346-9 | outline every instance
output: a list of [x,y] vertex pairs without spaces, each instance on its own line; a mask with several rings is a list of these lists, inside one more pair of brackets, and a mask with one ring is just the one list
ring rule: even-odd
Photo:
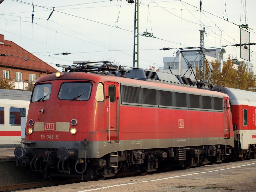
[[60,67],[36,81],[17,166],[102,179],[221,162],[234,151],[227,94],[111,62]]

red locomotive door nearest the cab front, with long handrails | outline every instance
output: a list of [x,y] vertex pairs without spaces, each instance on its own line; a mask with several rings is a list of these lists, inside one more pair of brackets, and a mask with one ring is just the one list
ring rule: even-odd
[[106,84],[106,111],[107,111],[107,139],[109,143],[120,141],[120,94],[119,84],[107,82]]

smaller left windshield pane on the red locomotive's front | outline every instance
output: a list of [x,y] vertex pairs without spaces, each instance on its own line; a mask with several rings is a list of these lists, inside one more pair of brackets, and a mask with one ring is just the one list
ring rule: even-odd
[[32,95],[32,102],[45,101],[51,96],[51,83],[37,84]]

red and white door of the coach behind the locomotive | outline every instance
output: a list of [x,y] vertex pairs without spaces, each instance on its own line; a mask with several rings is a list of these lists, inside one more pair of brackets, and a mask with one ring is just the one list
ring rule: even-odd
[[248,149],[249,148],[249,133],[248,133],[248,127],[249,127],[249,121],[248,121],[248,114],[249,114],[249,107],[248,105],[242,105],[242,149]]

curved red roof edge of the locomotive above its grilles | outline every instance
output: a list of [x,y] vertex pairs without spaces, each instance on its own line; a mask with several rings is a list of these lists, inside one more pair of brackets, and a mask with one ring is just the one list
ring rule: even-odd
[[39,82],[45,82],[45,81],[54,81],[54,80],[89,80],[94,81],[95,83],[99,82],[118,82],[120,84],[125,85],[134,85],[134,86],[145,86],[145,87],[151,87],[151,88],[159,88],[159,89],[170,89],[180,92],[187,92],[187,93],[194,93],[194,94],[202,94],[202,95],[215,95],[216,97],[228,97],[228,95],[216,92],[216,91],[209,91],[205,89],[197,89],[193,86],[182,86],[180,84],[173,84],[168,82],[162,82],[156,80],[151,81],[141,81],[137,79],[129,79],[129,78],[123,78],[123,77],[116,77],[113,75],[100,75],[100,74],[94,74],[94,73],[81,73],[81,72],[62,72],[62,76],[60,78],[57,78],[55,74],[49,74],[43,77],[40,77],[36,83]]

